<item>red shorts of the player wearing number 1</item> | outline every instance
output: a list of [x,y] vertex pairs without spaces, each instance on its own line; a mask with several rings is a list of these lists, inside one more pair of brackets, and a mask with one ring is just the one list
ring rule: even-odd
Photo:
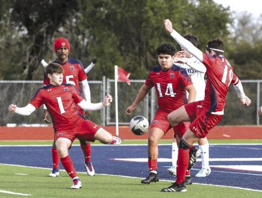
[[54,139],[56,141],[58,138],[67,138],[71,140],[71,142],[74,142],[74,140],[78,138],[80,140],[94,142],[94,136],[99,128],[101,128],[101,126],[85,120],[80,125],[74,127],[73,130],[57,130]]

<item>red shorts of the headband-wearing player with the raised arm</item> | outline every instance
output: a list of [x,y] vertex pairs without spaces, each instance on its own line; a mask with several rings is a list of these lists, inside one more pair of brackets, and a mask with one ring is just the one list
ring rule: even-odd
[[223,115],[205,111],[202,108],[202,101],[188,103],[184,107],[191,120],[189,129],[199,138],[206,137],[208,132],[223,118]]

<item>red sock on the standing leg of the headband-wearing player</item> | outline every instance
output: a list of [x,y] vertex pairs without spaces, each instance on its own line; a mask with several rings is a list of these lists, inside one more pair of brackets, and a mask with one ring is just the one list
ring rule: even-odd
[[189,163],[189,149],[179,148],[179,156],[177,162],[177,180],[176,182],[180,184],[185,180],[185,173]]

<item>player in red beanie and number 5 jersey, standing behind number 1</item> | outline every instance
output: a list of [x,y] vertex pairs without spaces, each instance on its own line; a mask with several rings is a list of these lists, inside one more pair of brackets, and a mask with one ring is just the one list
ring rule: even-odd
[[[80,61],[69,58],[70,43],[66,38],[59,37],[54,41],[54,50],[57,54],[57,59],[54,63],[60,64],[64,69],[63,83],[76,86],[77,90],[82,93],[84,99],[91,103],[90,89],[87,83],[87,76],[84,72],[83,65]],[[49,78],[45,76],[44,84],[49,84]],[[81,89],[82,88],[82,89]],[[82,91],[81,91],[82,90]],[[84,117],[84,111],[78,106],[79,112]],[[44,118],[45,119],[45,118]],[[85,142],[80,139],[80,145],[84,154],[84,165],[89,176],[95,175],[95,170],[91,162],[91,145],[90,142]],[[53,170],[49,174],[50,177],[59,176],[59,156],[55,144],[52,146],[52,161]]]

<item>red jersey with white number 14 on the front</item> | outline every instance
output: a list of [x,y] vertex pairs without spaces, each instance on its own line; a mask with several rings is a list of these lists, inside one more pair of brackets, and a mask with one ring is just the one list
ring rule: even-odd
[[158,107],[166,112],[180,108],[187,103],[185,87],[193,85],[185,69],[172,65],[168,70],[155,67],[148,74],[145,84],[155,87]]

